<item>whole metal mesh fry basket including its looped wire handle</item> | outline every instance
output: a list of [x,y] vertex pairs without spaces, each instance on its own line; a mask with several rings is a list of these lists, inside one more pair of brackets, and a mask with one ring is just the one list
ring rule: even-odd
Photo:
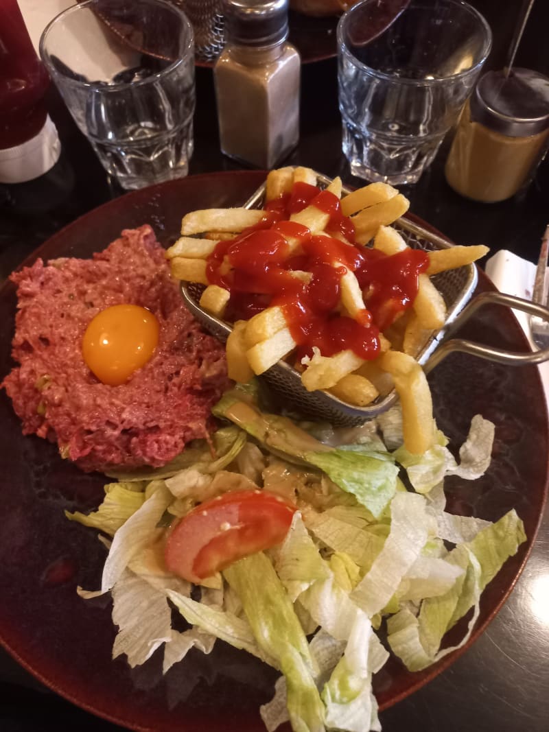
[[[321,188],[325,188],[331,182],[331,179],[321,173],[316,173],[316,176],[317,184]],[[262,208],[265,200],[265,190],[266,185],[261,185],[244,203],[244,207],[247,209]],[[343,195],[348,193],[351,193],[351,189],[343,187]],[[453,246],[446,239],[442,239],[441,236],[427,231],[427,229],[406,218],[400,218],[392,225],[403,236],[408,247],[413,249],[433,251],[449,249]],[[498,292],[482,293],[471,300],[478,281],[477,267],[474,264],[439,272],[432,277],[432,280],[446,303],[447,318],[444,326],[433,332],[416,356],[417,362],[422,365],[426,372],[435,367],[444,356],[452,351],[462,351],[491,361],[511,365],[538,364],[549,359],[549,348],[534,353],[514,353],[466,340],[448,340],[452,332],[468,320],[479,307],[484,305],[496,304],[513,307],[549,321],[549,310],[547,308]],[[217,337],[218,340],[225,341],[231,333],[232,327],[220,318],[206,313],[200,307],[198,303],[203,290],[204,286],[197,283],[181,283],[182,296],[190,312],[193,313],[204,329]],[[378,396],[370,405],[357,407],[343,402],[334,395],[329,394],[329,392],[320,390],[307,392],[302,384],[300,374],[285,361],[277,362],[261,376],[266,379],[275,392],[278,392],[285,401],[291,403],[299,413],[307,417],[326,419],[340,427],[355,427],[369,419],[373,419],[392,407],[398,398],[395,389],[393,389],[386,396]]]

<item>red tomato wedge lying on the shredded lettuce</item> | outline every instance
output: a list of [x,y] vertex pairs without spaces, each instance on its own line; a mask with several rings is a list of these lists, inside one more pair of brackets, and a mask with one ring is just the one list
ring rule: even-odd
[[296,507],[266,490],[234,490],[187,513],[165,545],[168,569],[200,582],[237,559],[280,544]]

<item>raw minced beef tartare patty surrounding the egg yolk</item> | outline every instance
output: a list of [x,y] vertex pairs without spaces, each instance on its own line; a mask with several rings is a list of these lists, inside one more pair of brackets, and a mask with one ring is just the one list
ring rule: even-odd
[[[86,471],[161,466],[207,436],[210,409],[227,386],[223,346],[184,307],[150,226],[123,231],[93,259],[38,259],[11,279],[19,365],[1,386],[23,433],[56,441]],[[108,386],[84,363],[82,337],[94,315],[121,303],[151,310],[160,337],[146,365]]]

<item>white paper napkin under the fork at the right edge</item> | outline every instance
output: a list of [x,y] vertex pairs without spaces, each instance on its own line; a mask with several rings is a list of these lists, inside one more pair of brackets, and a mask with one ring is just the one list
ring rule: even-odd
[[[536,276],[535,264],[518,257],[512,252],[501,250],[494,254],[486,263],[486,274],[499,291],[531,300],[534,278]],[[532,343],[529,316],[520,310],[514,310],[513,312],[517,316],[518,322],[523,327],[530,343]],[[520,368],[520,366],[517,368]],[[549,362],[541,364],[538,368],[542,377],[543,388],[545,389],[545,399],[549,403]]]

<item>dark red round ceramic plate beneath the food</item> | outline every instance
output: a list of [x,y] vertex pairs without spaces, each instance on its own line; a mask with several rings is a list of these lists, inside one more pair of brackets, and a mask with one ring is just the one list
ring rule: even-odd
[[[176,239],[181,217],[207,206],[237,205],[258,187],[261,172],[193,176],[136,191],[83,216],[48,240],[31,259],[89,257],[123,228],[150,223],[164,244]],[[30,261],[30,260],[29,260]],[[490,288],[481,276],[481,289]],[[0,291],[0,375],[10,369],[15,291]],[[510,350],[526,349],[513,316],[485,310],[463,332]],[[0,376],[0,378],[1,378]],[[529,554],[542,513],[548,422],[535,367],[504,367],[455,354],[430,376],[436,416],[452,444],[466,436],[474,414],[496,423],[493,463],[482,479],[449,480],[449,508],[496,520],[515,508],[528,542],[505,564],[482,597],[476,638],[497,613]],[[260,732],[258,707],[271,698],[277,674],[240,651],[217,643],[209,656],[193,653],[162,678],[156,656],[131,670],[111,660],[115,631],[108,600],[84,601],[77,585],[97,589],[105,550],[94,531],[64,518],[64,509],[91,509],[103,478],[59,458],[56,448],[23,437],[0,394],[0,641],[31,673],[59,694],[119,724],[155,732]],[[422,673],[396,661],[376,676],[381,709],[411,694],[446,668],[451,654]]]

